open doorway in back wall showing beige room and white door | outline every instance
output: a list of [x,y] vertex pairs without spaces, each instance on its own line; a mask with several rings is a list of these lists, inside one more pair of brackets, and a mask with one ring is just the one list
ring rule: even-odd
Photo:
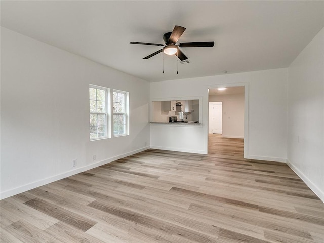
[[[209,89],[208,153],[222,152],[226,143],[239,142],[239,154],[247,152],[247,86]],[[238,151],[237,151],[238,152]]]

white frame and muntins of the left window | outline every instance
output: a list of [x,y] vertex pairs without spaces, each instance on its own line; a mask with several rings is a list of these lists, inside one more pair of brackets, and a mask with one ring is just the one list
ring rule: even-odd
[[[110,89],[106,88],[106,87],[102,87],[102,86],[97,86],[97,85],[89,85],[89,89],[93,88],[93,89],[99,89],[99,90],[104,90],[105,91],[105,112],[90,112],[90,93],[89,93],[89,118],[90,115],[105,115],[106,116],[106,131],[105,131],[105,136],[102,137],[96,137],[96,138],[90,138],[90,121],[89,121],[89,138],[90,141],[95,141],[95,140],[100,140],[100,139],[106,139],[106,138],[110,138],[111,136],[111,129],[110,129]],[[97,101],[97,100],[96,100]],[[99,127],[98,123],[97,123],[97,127]],[[98,129],[98,128],[97,128]],[[98,130],[97,130],[97,134],[98,134]]]

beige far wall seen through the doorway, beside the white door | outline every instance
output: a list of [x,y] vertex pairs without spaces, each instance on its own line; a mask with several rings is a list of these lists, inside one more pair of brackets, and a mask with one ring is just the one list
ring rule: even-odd
[[209,102],[223,102],[222,136],[244,138],[244,94],[210,95]]

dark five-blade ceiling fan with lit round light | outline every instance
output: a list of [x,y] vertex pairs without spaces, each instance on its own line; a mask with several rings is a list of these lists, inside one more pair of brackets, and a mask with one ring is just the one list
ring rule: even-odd
[[181,61],[184,61],[188,59],[186,55],[179,49],[179,47],[213,47],[214,42],[184,42],[179,43],[179,45],[176,45],[176,42],[180,38],[180,36],[183,34],[183,32],[186,30],[186,28],[181,26],[174,26],[174,29],[172,32],[165,33],[163,35],[163,40],[166,45],[163,44],[157,44],[157,43],[147,43],[147,42],[130,42],[130,44],[140,44],[140,45],[151,45],[151,46],[160,46],[163,47],[161,50],[158,50],[157,52],[152,53],[151,55],[148,55],[147,57],[144,57],[143,59],[149,59],[156,54],[159,54],[160,52],[164,52],[168,55],[176,55]]

